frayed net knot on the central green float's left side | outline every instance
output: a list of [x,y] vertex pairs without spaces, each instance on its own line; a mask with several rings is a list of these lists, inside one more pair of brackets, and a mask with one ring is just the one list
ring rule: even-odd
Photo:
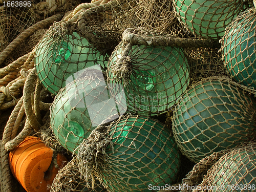
[[119,81],[123,80],[124,84],[129,82],[129,77],[132,74],[131,57],[122,56],[117,60],[112,68],[113,75]]

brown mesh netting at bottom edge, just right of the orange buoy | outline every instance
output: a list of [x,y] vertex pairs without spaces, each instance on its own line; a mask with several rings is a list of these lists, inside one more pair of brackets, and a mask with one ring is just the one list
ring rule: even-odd
[[54,178],[53,184],[51,186],[52,192],[62,192],[62,191],[74,191],[74,192],[103,192],[106,191],[102,185],[100,185],[98,180],[89,181],[90,187],[87,187],[87,183],[81,179],[81,175],[78,170],[78,162],[74,157],[65,167],[59,170],[58,174]]

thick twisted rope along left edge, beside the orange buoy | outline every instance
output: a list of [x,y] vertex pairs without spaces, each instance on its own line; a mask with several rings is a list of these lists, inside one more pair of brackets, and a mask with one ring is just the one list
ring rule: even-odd
[[1,190],[5,192],[12,192],[12,178],[9,168],[8,157],[9,153],[5,150],[5,144],[11,140],[12,128],[17,119],[18,113],[23,106],[23,98],[21,98],[14,110],[12,111],[11,116],[5,126],[5,131],[3,134],[2,148],[1,148],[1,166],[2,166],[2,176],[3,182],[1,185]]

